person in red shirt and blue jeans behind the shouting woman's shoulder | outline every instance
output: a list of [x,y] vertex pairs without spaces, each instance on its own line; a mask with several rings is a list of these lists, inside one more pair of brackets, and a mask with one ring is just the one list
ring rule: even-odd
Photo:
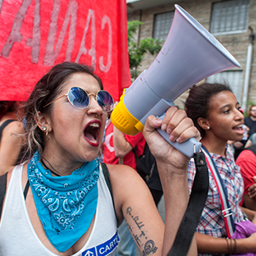
[[[103,159],[106,164],[126,164],[136,169],[135,153],[132,149],[136,147],[140,157],[143,154],[145,139],[140,132],[138,135],[125,135],[109,121],[106,132],[105,142],[102,143]],[[136,244],[130,235],[126,221],[118,227],[120,243],[118,244],[116,255],[135,256]]]

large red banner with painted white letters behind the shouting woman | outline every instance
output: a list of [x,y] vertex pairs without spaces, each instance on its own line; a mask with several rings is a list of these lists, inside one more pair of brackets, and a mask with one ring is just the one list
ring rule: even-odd
[[94,66],[119,100],[130,85],[126,1],[0,1],[0,100],[26,100],[65,60]]

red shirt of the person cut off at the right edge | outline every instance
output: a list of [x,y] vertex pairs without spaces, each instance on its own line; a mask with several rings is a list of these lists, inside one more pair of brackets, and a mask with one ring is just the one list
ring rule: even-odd
[[250,150],[243,150],[235,161],[239,165],[240,172],[244,178],[244,195],[248,194],[248,188],[254,184],[256,176],[256,156]]

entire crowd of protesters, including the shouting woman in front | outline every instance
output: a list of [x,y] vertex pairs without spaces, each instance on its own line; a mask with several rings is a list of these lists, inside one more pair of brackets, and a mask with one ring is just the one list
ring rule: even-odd
[[[228,85],[193,86],[184,110],[169,107],[164,121],[149,116],[135,136],[111,124],[115,102],[84,64],[55,65],[23,105],[18,115],[17,102],[0,108],[0,171],[7,183],[1,255],[135,256],[135,246],[142,255],[167,255],[197,170],[194,159],[164,140],[158,128],[173,142],[200,140],[206,155],[209,190],[187,255],[256,255],[256,233],[234,238],[225,221],[256,224],[256,148],[244,144],[235,158],[230,147],[230,141],[243,140],[244,124],[253,141],[256,106],[244,118]],[[159,197],[136,172],[133,149],[140,156],[145,142],[157,164]],[[209,161],[219,173],[229,214]],[[157,209],[163,192],[164,221]]]

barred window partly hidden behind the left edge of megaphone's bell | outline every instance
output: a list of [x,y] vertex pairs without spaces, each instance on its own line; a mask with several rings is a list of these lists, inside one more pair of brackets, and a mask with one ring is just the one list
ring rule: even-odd
[[154,16],[154,39],[166,40],[173,22],[173,12],[164,12]]

